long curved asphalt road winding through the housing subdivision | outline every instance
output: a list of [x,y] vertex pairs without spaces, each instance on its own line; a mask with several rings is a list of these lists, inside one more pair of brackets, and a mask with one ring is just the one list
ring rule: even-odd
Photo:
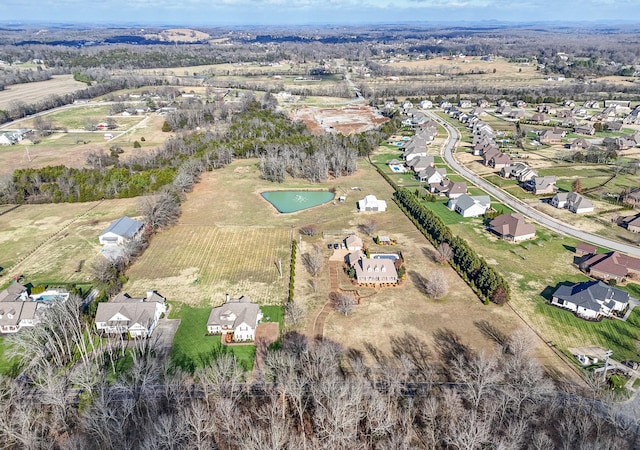
[[500,200],[510,208],[514,209],[515,211],[518,211],[519,213],[527,217],[530,217],[531,219],[535,220],[539,224],[553,231],[556,231],[564,235],[575,237],[576,239],[580,239],[581,241],[584,241],[584,242],[589,242],[591,244],[597,245],[598,247],[606,247],[622,253],[627,253],[629,255],[640,257],[640,247],[635,245],[627,245],[619,241],[613,241],[611,239],[606,239],[601,236],[596,236],[594,234],[579,230],[573,227],[572,225],[569,225],[568,223],[561,222],[557,219],[547,216],[546,214],[541,213],[537,209],[526,205],[520,200],[517,200],[516,198],[507,194],[503,190],[495,187],[491,183],[487,182],[483,178],[471,172],[469,169],[458,164],[456,159],[453,157],[453,152],[455,150],[456,143],[458,142],[458,139],[459,139],[458,131],[454,127],[449,125],[446,121],[440,119],[435,114],[427,111],[425,111],[425,113],[429,115],[433,120],[435,120],[436,122],[441,124],[443,127],[445,127],[445,129],[449,133],[449,139],[447,140],[447,143],[445,144],[442,150],[442,155],[445,161],[447,161],[447,163],[451,166],[453,170],[455,170],[456,172],[458,172],[459,174],[467,178],[473,184],[477,185],[478,187],[481,187],[487,193],[491,194],[492,196],[494,196],[495,198],[497,198],[498,200]]

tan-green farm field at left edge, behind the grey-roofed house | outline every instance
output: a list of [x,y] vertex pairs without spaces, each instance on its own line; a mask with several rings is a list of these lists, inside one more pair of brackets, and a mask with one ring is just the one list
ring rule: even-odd
[[100,254],[98,235],[111,221],[136,216],[136,205],[136,199],[21,205],[0,215],[0,285],[19,274],[34,285],[86,281]]

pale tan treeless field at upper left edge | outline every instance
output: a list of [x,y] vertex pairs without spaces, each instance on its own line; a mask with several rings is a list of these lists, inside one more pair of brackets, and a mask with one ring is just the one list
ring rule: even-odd
[[79,91],[87,85],[73,79],[73,75],[54,75],[51,80],[14,84],[0,91],[0,109],[10,110],[12,103],[37,103],[51,95]]

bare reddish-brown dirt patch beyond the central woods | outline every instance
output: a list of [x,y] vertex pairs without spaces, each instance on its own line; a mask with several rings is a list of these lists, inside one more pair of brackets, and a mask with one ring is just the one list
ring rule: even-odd
[[371,130],[389,120],[370,106],[342,108],[309,106],[293,111],[291,118],[304,122],[314,134],[338,132],[344,135]]

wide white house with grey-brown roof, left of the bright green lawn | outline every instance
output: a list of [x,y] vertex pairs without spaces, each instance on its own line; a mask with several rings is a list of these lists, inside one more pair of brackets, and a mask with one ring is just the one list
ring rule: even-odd
[[147,338],[167,311],[165,298],[156,291],[147,291],[144,298],[118,294],[108,302],[98,303],[96,330],[99,334]]

